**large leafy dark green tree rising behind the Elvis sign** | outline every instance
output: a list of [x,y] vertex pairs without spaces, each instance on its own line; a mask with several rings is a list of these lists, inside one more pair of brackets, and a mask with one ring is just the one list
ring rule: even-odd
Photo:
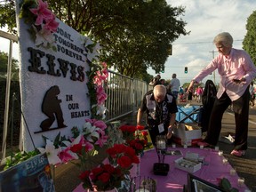
[[[32,0],[25,0],[32,1]],[[0,4],[1,27],[13,31],[13,0]],[[170,44],[188,35],[186,22],[178,20],[184,7],[165,0],[48,0],[52,12],[80,34],[91,34],[103,47],[101,60],[123,75],[139,76],[147,68],[164,69]],[[7,9],[8,8],[8,9]]]

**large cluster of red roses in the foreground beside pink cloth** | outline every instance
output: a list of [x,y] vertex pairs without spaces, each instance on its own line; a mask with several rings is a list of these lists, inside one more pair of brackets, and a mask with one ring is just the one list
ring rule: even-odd
[[92,170],[86,170],[79,175],[83,188],[105,191],[120,188],[122,181],[129,175],[132,164],[139,164],[140,160],[135,151],[124,144],[116,144],[107,149],[110,164],[100,164]]

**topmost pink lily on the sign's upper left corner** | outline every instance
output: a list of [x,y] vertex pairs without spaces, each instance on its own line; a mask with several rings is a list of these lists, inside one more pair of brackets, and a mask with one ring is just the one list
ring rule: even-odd
[[42,0],[38,0],[38,7],[30,9],[30,12],[33,12],[37,15],[36,18],[36,25],[43,24],[44,20],[51,20],[52,19],[52,12],[48,10],[47,2],[43,2]]

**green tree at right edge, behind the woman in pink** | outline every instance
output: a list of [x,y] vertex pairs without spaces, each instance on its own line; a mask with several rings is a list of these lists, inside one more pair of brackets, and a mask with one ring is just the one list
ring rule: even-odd
[[256,11],[248,17],[246,30],[243,49],[250,54],[254,65],[256,65]]

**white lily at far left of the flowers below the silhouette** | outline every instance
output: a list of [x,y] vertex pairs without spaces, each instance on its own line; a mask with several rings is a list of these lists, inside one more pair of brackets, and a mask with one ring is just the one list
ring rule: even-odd
[[45,148],[38,148],[40,153],[46,153],[49,164],[60,164],[61,160],[58,156],[58,154],[61,151],[61,148],[55,148],[51,140],[46,140],[46,146]]

